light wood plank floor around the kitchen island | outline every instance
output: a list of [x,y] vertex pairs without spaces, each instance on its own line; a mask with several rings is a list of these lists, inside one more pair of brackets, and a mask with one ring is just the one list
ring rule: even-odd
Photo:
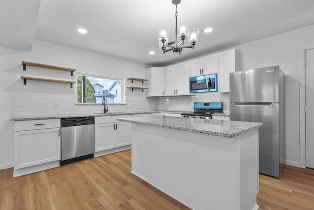
[[[0,210],[187,210],[131,171],[131,150],[13,178],[0,170]],[[260,175],[259,210],[314,210],[314,170]]]

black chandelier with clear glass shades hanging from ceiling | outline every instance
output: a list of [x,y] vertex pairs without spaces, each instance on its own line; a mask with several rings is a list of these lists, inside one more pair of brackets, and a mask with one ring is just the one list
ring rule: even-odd
[[[159,48],[165,54],[168,51],[173,51],[174,53],[179,53],[181,55],[181,51],[183,48],[192,48],[194,49],[194,45],[198,42],[198,29],[190,29],[188,30],[188,24],[186,21],[181,21],[179,24],[179,33],[178,33],[178,11],[177,5],[181,2],[181,0],[172,0],[172,3],[176,5],[176,40],[172,42],[168,42],[168,34],[169,27],[168,26],[159,26],[158,27],[158,41]],[[181,42],[179,43],[179,38]],[[184,40],[188,39],[191,46],[183,46]],[[168,49],[167,49],[168,48]]]

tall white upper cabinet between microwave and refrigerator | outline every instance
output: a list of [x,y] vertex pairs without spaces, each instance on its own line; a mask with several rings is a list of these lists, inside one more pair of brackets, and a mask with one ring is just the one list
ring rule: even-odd
[[229,73],[240,69],[239,52],[235,49],[217,53],[218,92],[229,92]]

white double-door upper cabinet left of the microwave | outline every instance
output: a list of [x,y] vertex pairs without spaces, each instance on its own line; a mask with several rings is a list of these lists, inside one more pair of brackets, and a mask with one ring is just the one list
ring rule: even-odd
[[189,62],[182,62],[164,67],[165,96],[188,95]]

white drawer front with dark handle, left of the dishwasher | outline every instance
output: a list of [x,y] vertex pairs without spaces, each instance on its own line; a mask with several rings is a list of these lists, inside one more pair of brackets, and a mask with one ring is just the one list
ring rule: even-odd
[[15,121],[14,131],[60,128],[60,119]]

